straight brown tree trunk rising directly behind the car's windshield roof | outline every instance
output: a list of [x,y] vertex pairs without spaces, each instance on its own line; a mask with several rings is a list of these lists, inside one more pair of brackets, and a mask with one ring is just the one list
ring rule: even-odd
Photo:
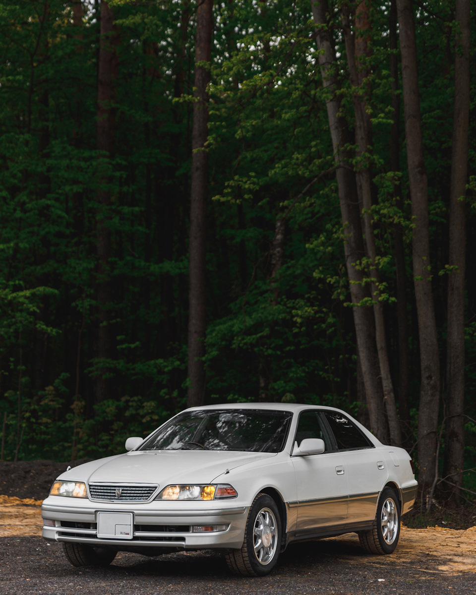
[[[195,35],[195,103],[193,104],[192,176],[189,236],[189,359],[187,405],[202,405],[205,397],[206,198],[208,194],[208,92],[210,80],[213,0],[198,5]],[[208,63],[204,65],[203,63]]]

